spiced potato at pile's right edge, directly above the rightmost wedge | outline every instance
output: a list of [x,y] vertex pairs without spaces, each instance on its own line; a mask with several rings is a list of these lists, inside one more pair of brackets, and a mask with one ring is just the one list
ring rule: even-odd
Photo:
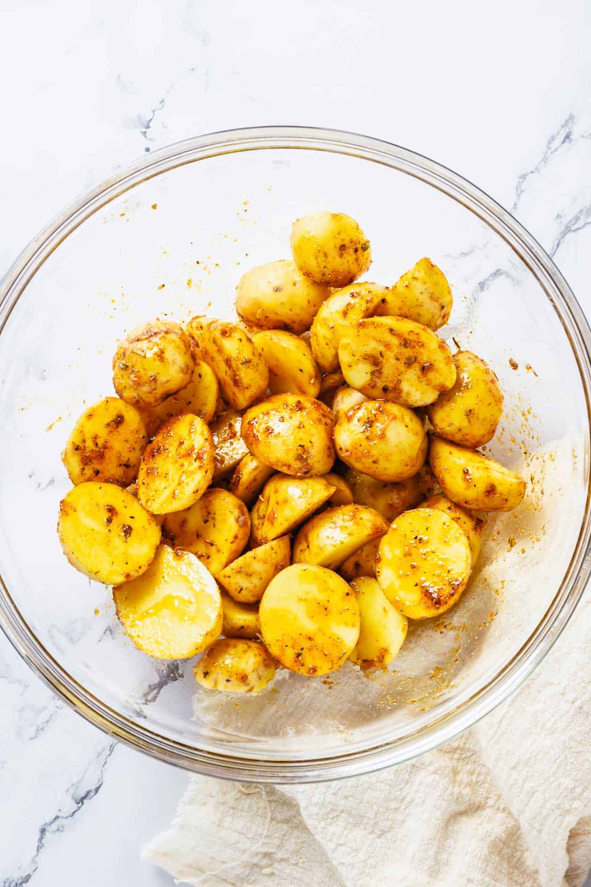
[[475,450],[494,437],[502,414],[502,390],[484,360],[470,351],[458,351],[454,363],[454,387],[427,407],[427,415],[439,437]]

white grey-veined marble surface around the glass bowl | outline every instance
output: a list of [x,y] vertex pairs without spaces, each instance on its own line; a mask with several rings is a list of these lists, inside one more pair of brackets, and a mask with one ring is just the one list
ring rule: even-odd
[[[356,130],[512,208],[591,311],[591,7],[4,0],[0,273],[58,209],[169,142]],[[0,638],[0,884],[143,885],[186,777],[58,703]]]

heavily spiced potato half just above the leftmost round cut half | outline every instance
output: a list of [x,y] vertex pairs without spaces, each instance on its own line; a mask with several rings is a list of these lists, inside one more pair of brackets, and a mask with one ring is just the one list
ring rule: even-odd
[[76,422],[62,462],[72,483],[106,481],[127,486],[137,475],[147,439],[136,408],[119,397],[105,397]]

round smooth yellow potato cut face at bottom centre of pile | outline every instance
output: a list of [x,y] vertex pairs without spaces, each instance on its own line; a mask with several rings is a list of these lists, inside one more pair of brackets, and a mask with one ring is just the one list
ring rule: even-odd
[[259,608],[268,652],[290,671],[336,671],[359,637],[359,604],[330,569],[296,563],[271,579]]

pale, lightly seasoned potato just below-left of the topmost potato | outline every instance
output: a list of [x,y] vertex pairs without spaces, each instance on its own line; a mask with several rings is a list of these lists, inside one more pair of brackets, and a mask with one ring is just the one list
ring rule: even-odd
[[330,289],[304,277],[295,262],[280,259],[247,271],[236,293],[236,310],[246,323],[300,334],[309,328]]

